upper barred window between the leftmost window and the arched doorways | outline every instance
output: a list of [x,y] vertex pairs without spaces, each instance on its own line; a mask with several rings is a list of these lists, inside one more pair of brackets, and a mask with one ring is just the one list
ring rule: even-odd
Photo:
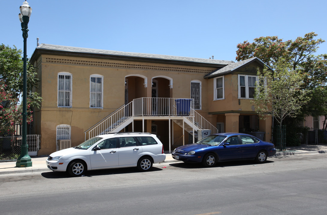
[[91,76],[90,77],[90,107],[102,108],[103,107],[103,77]]

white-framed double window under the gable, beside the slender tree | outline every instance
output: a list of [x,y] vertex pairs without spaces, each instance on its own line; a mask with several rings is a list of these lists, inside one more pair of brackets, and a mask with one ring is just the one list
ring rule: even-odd
[[253,99],[257,76],[238,75],[238,98]]

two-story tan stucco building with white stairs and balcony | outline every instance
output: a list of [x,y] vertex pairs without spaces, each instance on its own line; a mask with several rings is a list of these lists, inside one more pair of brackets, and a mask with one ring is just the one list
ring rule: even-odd
[[[36,47],[41,108],[33,133],[39,155],[100,133],[155,133],[165,150],[193,142],[198,130],[260,131],[271,140],[253,99],[258,58],[241,62],[59,45]],[[68,144],[68,145],[66,145]]]

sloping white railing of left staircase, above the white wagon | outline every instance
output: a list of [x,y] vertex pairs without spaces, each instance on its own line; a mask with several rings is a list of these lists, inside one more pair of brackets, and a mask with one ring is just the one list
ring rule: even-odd
[[[133,116],[133,102],[129,102],[127,105],[122,106],[117,109],[111,115],[107,116],[101,122],[99,122],[95,127],[89,129],[89,139],[100,134],[110,133],[113,129],[117,128],[120,124],[125,122],[127,119]],[[86,133],[85,140],[86,140]]]

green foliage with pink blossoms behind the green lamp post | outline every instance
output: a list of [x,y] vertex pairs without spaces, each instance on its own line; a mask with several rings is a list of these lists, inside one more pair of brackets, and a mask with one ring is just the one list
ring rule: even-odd
[[[33,89],[38,79],[32,65],[27,65],[27,123],[33,121],[32,109],[39,108],[42,98]],[[22,122],[23,92],[22,50],[0,45],[0,136],[14,133],[14,125]]]

